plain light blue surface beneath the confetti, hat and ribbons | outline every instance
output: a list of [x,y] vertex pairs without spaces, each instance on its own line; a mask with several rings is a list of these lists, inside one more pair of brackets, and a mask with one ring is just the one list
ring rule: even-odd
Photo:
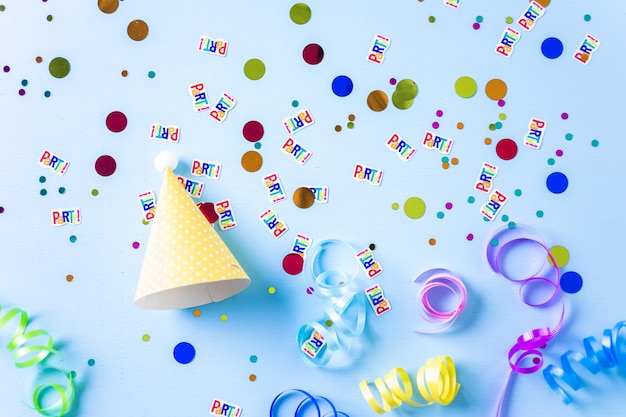
[[[330,398],[351,416],[375,415],[361,397],[358,383],[370,381],[393,367],[414,378],[432,356],[450,355],[458,369],[461,390],[448,407],[433,405],[414,411],[404,406],[397,415],[495,415],[509,373],[507,353],[524,331],[552,325],[557,313],[524,305],[518,286],[495,274],[485,258],[490,236],[506,223],[498,217],[485,222],[479,207],[486,195],[473,185],[483,162],[497,165],[496,187],[509,196],[503,214],[536,229],[548,246],[563,245],[571,254],[564,268],[584,280],[577,294],[565,295],[566,322],[545,350],[547,363],[556,363],[568,349],[582,349],[581,340],[600,337],[603,329],[625,319],[621,274],[624,197],[620,138],[625,93],[623,35],[626,17],[620,2],[555,0],[531,32],[524,32],[513,55],[506,59],[494,48],[507,26],[528,2],[463,1],[458,10],[441,1],[309,3],[312,18],[305,25],[289,19],[293,2],[125,0],[110,15],[95,1],[28,0],[2,2],[0,12],[0,304],[17,306],[32,316],[31,328],[43,328],[55,338],[65,360],[78,374],[79,396],[72,415],[203,416],[213,398],[243,407],[245,416],[267,415],[281,391],[302,388]],[[591,16],[586,22],[585,14]],[[52,15],[52,21],[46,16]],[[479,30],[472,24],[483,16]],[[434,16],[434,23],[428,17]],[[148,37],[136,42],[126,34],[128,23],[142,19]],[[515,27],[515,25],[512,25]],[[382,65],[365,55],[376,34],[391,38]],[[590,33],[601,46],[588,65],[572,59]],[[200,36],[230,42],[226,57],[195,50]],[[541,43],[559,38],[564,53],[545,58]],[[324,60],[308,65],[302,49],[309,43],[324,48]],[[42,63],[35,57],[41,56]],[[70,74],[53,78],[47,69],[54,57],[67,58]],[[266,73],[258,81],[243,74],[243,65],[259,58]],[[128,71],[122,77],[122,70]],[[148,72],[154,71],[154,78]],[[354,90],[337,97],[332,80],[347,75]],[[470,76],[477,94],[460,98],[455,81]],[[391,97],[390,78],[410,78],[419,86],[414,105],[398,110],[391,104],[379,113],[366,105],[372,90]],[[487,81],[500,78],[508,85],[502,108],[484,92]],[[22,87],[21,81],[28,80]],[[207,114],[195,114],[187,86],[203,81],[214,104],[225,91],[237,99],[222,124]],[[26,94],[18,95],[24,88]],[[51,97],[44,97],[44,91]],[[292,101],[298,100],[294,108]],[[313,156],[299,166],[280,146],[287,135],[282,120],[308,108],[315,124],[294,135]],[[435,115],[443,110],[443,117]],[[105,125],[112,111],[122,111],[128,127],[121,133]],[[569,118],[561,119],[567,112]],[[506,114],[502,129],[490,123]],[[348,115],[356,119],[348,129]],[[540,150],[522,145],[528,121],[548,122]],[[253,149],[242,136],[249,120],[265,128],[259,152],[263,167],[242,169],[241,155]],[[455,140],[450,157],[458,165],[444,170],[441,155],[420,146],[431,123],[437,133]],[[456,128],[463,122],[462,130]],[[150,125],[181,128],[180,143],[148,139]],[[343,126],[335,132],[335,125]],[[398,133],[417,147],[407,163],[388,151],[385,141]],[[571,133],[572,140],[565,135]],[[492,145],[484,138],[491,137]],[[513,138],[518,155],[500,160],[495,143]],[[593,147],[592,140],[599,146]],[[44,149],[70,161],[60,177],[38,165]],[[563,150],[562,157],[555,151]],[[203,200],[230,199],[238,226],[220,232],[252,279],[242,293],[218,304],[180,311],[146,311],[133,305],[143,251],[150,226],[141,222],[137,195],[158,193],[161,176],[153,168],[163,150],[180,160],[177,174],[186,175],[193,158],[217,161],[218,181],[205,181]],[[94,170],[104,154],[117,161],[110,177]],[[550,166],[548,158],[556,163]],[[354,181],[356,163],[385,171],[380,187]],[[560,171],[568,189],[552,194],[547,176]],[[278,172],[288,199],[271,205],[261,178]],[[39,177],[46,182],[40,183]],[[187,175],[188,176],[188,175]],[[301,185],[326,185],[329,202],[303,210],[290,200]],[[60,194],[59,187],[66,192]],[[40,189],[48,191],[40,195]],[[92,196],[92,189],[99,194]],[[522,190],[516,197],[514,190]],[[425,215],[410,219],[402,207],[411,197],[422,198]],[[476,197],[474,204],[467,198]],[[158,198],[157,198],[158,202]],[[445,209],[453,203],[451,210]],[[274,239],[258,216],[276,210],[289,231]],[[53,227],[50,211],[79,207],[80,225]],[[545,215],[537,217],[537,210]],[[444,212],[443,219],[437,212]],[[368,310],[362,351],[343,368],[308,367],[299,357],[298,328],[321,318],[327,301],[306,293],[306,273],[287,275],[282,258],[297,233],[314,243],[338,238],[355,250],[375,243],[376,260],[384,272],[374,281],[388,297],[392,311],[376,317]],[[466,235],[473,233],[473,241]],[[69,237],[77,237],[71,243]],[[435,238],[432,246],[428,241]],[[132,247],[139,242],[139,249]],[[416,312],[419,287],[413,279],[430,268],[448,268],[468,288],[468,305],[457,323],[436,335],[413,331],[421,323]],[[74,280],[66,281],[67,274]],[[360,288],[370,282],[363,273]],[[268,288],[274,287],[275,294]],[[369,308],[369,307],[368,307]],[[226,314],[223,322],[220,316]],[[7,335],[2,332],[3,338]],[[142,335],[149,334],[144,342]],[[196,349],[195,359],[182,365],[172,351],[179,342]],[[250,356],[256,355],[253,363]],[[88,361],[95,364],[90,366]],[[31,416],[19,386],[24,373],[15,369],[11,354],[0,354],[0,404],[3,415]],[[255,374],[252,382],[249,375]],[[623,407],[624,373],[599,375],[581,371],[585,388],[564,406],[540,373],[515,377],[505,411],[511,416],[617,416]],[[287,410],[285,414],[289,415]]]

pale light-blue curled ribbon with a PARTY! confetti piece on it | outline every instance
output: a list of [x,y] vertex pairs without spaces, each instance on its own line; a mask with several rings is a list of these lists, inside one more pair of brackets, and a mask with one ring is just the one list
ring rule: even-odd
[[[342,264],[332,265],[327,269],[323,259],[325,256],[337,256],[338,251],[348,254],[348,261],[354,263],[355,268],[346,269],[345,259]],[[349,339],[360,336],[365,328],[366,310],[365,296],[351,288],[351,284],[358,273],[358,264],[352,247],[337,239],[320,242],[310,256],[311,275],[315,293],[328,298],[332,305],[324,312],[324,316],[315,322],[300,327],[297,335],[298,347],[302,359],[312,366],[325,366],[334,353],[350,350]],[[344,254],[345,255],[345,254]],[[350,266],[350,263],[347,264]],[[332,322],[332,328],[326,325],[327,320]]]

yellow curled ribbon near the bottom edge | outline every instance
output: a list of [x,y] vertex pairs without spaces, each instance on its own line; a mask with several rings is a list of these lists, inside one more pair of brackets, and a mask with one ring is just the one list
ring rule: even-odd
[[378,414],[399,407],[403,402],[414,407],[423,407],[434,403],[448,405],[454,400],[461,387],[461,384],[456,380],[454,361],[449,356],[430,358],[417,371],[417,389],[426,403],[413,400],[411,378],[402,368],[394,368],[385,376],[374,380],[374,385],[382,400],[382,406],[374,398],[369,384],[367,380],[363,380],[359,383],[359,388],[365,401]]

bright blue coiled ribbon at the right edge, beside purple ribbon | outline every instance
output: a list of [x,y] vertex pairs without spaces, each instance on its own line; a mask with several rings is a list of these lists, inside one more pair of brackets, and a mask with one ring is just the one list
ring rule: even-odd
[[594,375],[603,368],[613,368],[616,365],[626,371],[626,321],[618,322],[613,329],[604,330],[602,343],[590,336],[583,339],[583,346],[585,355],[568,350],[561,355],[561,368],[550,364],[543,370],[546,382],[565,404],[570,404],[572,398],[556,379],[560,379],[574,391],[582,387],[580,377],[572,368],[572,361],[578,362]]

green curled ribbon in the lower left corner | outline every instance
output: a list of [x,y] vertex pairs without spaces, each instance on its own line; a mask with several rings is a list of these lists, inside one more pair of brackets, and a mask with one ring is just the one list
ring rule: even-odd
[[[19,308],[1,314],[2,306],[0,306],[0,330],[3,330],[14,318],[17,318],[17,327],[13,332],[13,336],[7,343],[7,349],[13,352],[13,362],[18,368],[28,368],[41,363],[50,355],[61,354],[54,349],[54,341],[52,336],[45,330],[26,331],[28,326],[28,314]],[[34,339],[46,339],[45,344],[33,344],[27,346]],[[64,371],[57,368],[47,367],[43,372],[60,373],[64,379],[67,379],[66,386],[54,382],[47,382],[37,385],[32,395],[32,408],[39,414],[48,417],[61,417],[67,414],[72,408],[74,402],[74,376],[73,372]],[[45,398],[49,398],[49,392],[52,391],[58,397],[57,401],[50,405],[43,405]]]

